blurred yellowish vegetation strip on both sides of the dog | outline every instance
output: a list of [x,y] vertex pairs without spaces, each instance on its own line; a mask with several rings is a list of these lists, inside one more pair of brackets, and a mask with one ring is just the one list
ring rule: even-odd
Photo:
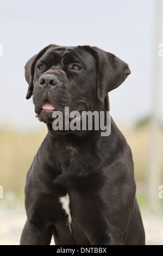
[[[141,205],[146,205],[146,180],[150,157],[150,129],[147,123],[135,126],[133,129],[120,127],[133,152],[137,197]],[[40,131],[21,133],[15,129],[0,130],[0,185],[4,194],[14,192],[23,197],[26,175],[33,158],[45,138],[47,128]],[[159,151],[163,152],[163,130],[159,138]],[[163,173],[163,159],[160,162]],[[160,185],[163,185],[163,175]],[[163,203],[163,199],[160,200]]]

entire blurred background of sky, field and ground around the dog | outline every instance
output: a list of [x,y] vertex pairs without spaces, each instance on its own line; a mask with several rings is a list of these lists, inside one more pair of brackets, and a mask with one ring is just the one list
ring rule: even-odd
[[0,245],[18,245],[26,221],[26,174],[47,129],[26,100],[24,65],[48,44],[98,46],[129,64],[110,111],[133,152],[147,244],[163,245],[162,2],[1,0]]

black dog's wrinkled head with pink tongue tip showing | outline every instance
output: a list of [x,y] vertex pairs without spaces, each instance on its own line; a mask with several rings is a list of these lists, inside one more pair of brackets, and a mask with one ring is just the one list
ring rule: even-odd
[[40,121],[52,123],[54,111],[103,110],[106,95],[130,74],[128,65],[114,54],[97,47],[49,45],[25,66],[29,84],[26,98],[33,95]]

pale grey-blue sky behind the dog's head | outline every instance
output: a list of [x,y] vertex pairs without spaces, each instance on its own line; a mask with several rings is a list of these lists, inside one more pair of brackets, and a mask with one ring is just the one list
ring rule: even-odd
[[[0,125],[41,127],[26,100],[24,65],[48,44],[91,45],[127,62],[131,75],[109,94],[116,122],[134,124],[151,113],[155,0],[11,1],[0,4]],[[163,22],[163,21],[162,21]],[[163,38],[160,44],[163,43]],[[163,61],[163,57],[161,62]],[[160,98],[163,90],[160,90]],[[160,99],[159,116],[163,117]]]

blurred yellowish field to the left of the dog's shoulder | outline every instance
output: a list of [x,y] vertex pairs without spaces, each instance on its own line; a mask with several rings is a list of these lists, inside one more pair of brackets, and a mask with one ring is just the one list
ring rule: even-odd
[[47,129],[21,133],[14,129],[0,131],[0,185],[4,194],[24,193],[26,175]]

